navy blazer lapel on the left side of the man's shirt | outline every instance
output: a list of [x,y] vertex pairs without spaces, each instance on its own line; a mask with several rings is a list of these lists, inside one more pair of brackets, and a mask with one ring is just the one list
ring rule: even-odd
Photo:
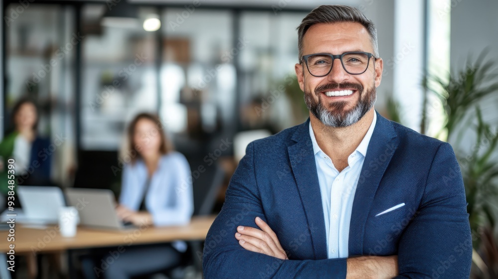
[[313,145],[309,135],[309,119],[299,126],[292,139],[296,143],[287,147],[289,160],[306,213],[315,260],[327,259],[325,220]]

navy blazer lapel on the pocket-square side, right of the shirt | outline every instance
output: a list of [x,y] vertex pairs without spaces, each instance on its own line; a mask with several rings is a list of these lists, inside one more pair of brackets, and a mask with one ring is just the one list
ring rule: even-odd
[[349,229],[349,255],[363,255],[365,224],[370,213],[373,197],[384,175],[398,139],[391,123],[377,112],[377,123],[367,149],[360,179],[353,201],[353,211]]

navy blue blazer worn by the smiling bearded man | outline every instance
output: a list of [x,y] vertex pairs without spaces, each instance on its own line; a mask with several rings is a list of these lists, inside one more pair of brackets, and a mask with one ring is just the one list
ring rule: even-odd
[[[349,255],[398,255],[396,278],[468,279],[472,238],[466,204],[451,145],[377,114],[353,202]],[[289,260],[239,245],[237,226],[257,228],[256,216],[273,229]],[[346,278],[346,259],[327,259],[326,246],[308,119],[248,145],[207,235],[204,275]]]

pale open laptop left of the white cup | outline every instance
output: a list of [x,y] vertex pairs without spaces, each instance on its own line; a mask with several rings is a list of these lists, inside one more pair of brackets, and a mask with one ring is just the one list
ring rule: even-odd
[[66,205],[64,195],[55,186],[17,186],[22,212],[17,214],[19,223],[57,224],[59,210]]

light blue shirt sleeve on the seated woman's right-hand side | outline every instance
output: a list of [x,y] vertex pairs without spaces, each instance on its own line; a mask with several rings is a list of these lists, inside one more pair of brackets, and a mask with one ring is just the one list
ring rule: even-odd
[[[163,203],[162,207],[150,209],[155,226],[185,225],[190,222],[194,212],[194,195],[192,190],[192,176],[187,159],[180,153],[174,154],[175,171],[168,185],[169,193],[175,195],[173,206]],[[170,166],[167,166],[170,167]]]

